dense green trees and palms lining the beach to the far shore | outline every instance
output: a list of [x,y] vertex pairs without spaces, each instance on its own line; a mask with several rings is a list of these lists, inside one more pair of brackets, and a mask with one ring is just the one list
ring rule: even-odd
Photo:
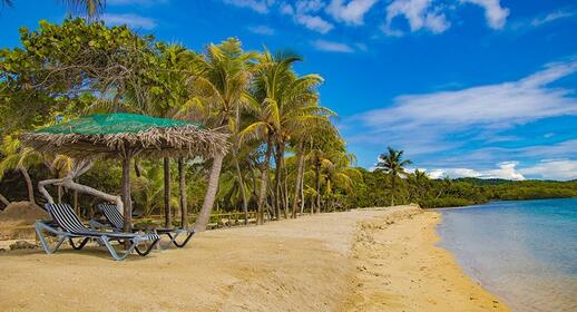
[[[375,170],[356,167],[332,123],[336,113],[320,105],[323,78],[297,74],[294,65],[303,59],[287,51],[245,51],[236,38],[193,51],[126,26],[80,18],[62,25],[41,21],[37,30],[22,28],[20,35],[21,47],[0,50],[3,205],[41,204],[38,181],[65,177],[76,164],[66,155],[23,146],[22,134],[118,111],[195,121],[229,135],[224,159],[134,162],[136,212],[164,215],[169,224],[188,213],[194,220],[206,208],[209,189],[217,213],[237,212],[257,223],[405,203],[446,207],[577,196],[575,181],[430,179],[423,172],[408,172],[411,162],[403,152],[385,146]],[[118,162],[100,159],[77,179],[118,194],[120,176]],[[85,216],[94,213],[96,198],[62,187],[51,192]]]

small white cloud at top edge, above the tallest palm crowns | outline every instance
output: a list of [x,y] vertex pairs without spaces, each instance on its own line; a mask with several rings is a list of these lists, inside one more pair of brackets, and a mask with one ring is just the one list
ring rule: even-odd
[[314,14],[320,11],[323,6],[324,3],[322,1],[315,0],[297,1],[294,7],[288,3],[283,3],[281,6],[281,12],[293,17],[294,22],[302,25],[310,30],[326,33],[331,31],[334,26],[322,17]]

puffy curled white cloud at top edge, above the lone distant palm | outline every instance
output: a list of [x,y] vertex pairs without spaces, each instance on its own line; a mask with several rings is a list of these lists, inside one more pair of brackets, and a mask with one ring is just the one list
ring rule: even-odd
[[441,33],[449,29],[441,8],[433,7],[432,0],[394,0],[387,7],[387,20],[383,31],[389,36],[402,36],[401,30],[392,28],[393,19],[404,17],[409,22],[411,31],[427,29],[433,33]]

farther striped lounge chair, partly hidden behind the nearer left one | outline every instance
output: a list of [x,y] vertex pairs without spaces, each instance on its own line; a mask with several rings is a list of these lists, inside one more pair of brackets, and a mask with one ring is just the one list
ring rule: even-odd
[[[125,220],[120,212],[118,211],[118,207],[113,204],[98,204],[98,209],[102,213],[102,215],[106,217],[106,221],[108,222],[108,225],[113,228],[115,232],[121,232],[125,225]],[[95,222],[91,223],[94,225]],[[188,241],[193,237],[195,231],[193,228],[157,228],[155,232],[159,235],[166,235],[170,238],[170,242],[163,246],[163,248],[168,248],[172,244],[177,246],[178,248],[182,248],[188,244]],[[178,243],[176,238],[180,235],[185,234],[186,238]]]

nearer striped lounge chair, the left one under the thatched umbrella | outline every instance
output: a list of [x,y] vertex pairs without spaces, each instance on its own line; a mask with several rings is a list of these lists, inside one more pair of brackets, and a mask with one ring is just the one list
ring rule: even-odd
[[[76,215],[72,207],[67,204],[46,204],[45,207],[52,217],[52,221],[37,222],[35,228],[47,254],[55,253],[67,238],[74,250],[81,250],[90,238],[94,238],[101,242],[116,261],[123,261],[133,251],[136,251],[141,256],[147,255],[160,241],[160,236],[157,234],[98,232],[90,230],[80,222],[80,218]],[[43,231],[52,233],[58,237],[55,247],[48,245]],[[81,238],[80,244],[76,245],[72,238]],[[113,241],[119,243],[130,242],[130,245],[124,254],[118,254],[110,244]],[[151,242],[151,244],[144,251],[139,250],[138,245],[146,242]]]

